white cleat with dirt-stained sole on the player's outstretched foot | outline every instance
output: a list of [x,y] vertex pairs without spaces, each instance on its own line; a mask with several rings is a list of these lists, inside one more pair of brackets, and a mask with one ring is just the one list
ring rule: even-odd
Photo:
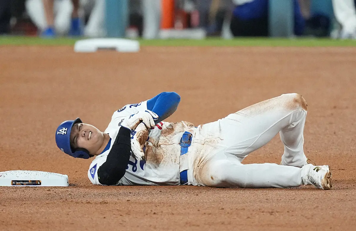
[[[309,164],[308,164],[309,165]],[[310,170],[304,176],[304,185],[314,185],[318,189],[331,189],[331,172],[328,165],[314,166],[310,164]]]

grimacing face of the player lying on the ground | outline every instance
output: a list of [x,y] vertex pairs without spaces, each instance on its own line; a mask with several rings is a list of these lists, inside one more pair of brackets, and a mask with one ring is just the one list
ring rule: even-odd
[[103,133],[90,124],[74,124],[70,131],[70,145],[72,148],[85,148],[92,155],[98,151],[100,145],[103,143],[103,139]]

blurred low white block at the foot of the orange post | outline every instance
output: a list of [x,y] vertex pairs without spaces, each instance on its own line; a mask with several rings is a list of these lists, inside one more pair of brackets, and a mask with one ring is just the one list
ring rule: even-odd
[[165,29],[160,30],[159,39],[205,39],[206,32],[204,29]]

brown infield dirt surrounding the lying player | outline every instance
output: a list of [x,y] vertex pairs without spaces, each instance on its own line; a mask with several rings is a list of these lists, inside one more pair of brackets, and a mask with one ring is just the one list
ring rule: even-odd
[[[356,48],[142,47],[74,53],[73,47],[0,49],[0,171],[69,176],[66,188],[0,188],[0,230],[355,230]],[[162,91],[181,102],[166,121],[215,121],[296,92],[308,102],[304,150],[328,164],[333,189],[94,186],[89,160],[56,146],[80,117],[104,130],[114,111]],[[242,131],[243,132],[243,131]],[[279,163],[279,136],[243,163]]]

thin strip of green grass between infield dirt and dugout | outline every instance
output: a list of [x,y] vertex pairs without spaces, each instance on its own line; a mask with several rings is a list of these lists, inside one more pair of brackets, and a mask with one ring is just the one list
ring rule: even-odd
[[[0,46],[73,46],[78,39],[56,38],[42,39],[39,37],[24,36],[0,36]],[[141,46],[307,46],[307,47],[330,47],[330,46],[356,46],[356,40],[333,40],[333,39],[274,39],[274,38],[239,38],[223,40],[209,38],[204,40],[169,39],[169,40],[142,40]]]

